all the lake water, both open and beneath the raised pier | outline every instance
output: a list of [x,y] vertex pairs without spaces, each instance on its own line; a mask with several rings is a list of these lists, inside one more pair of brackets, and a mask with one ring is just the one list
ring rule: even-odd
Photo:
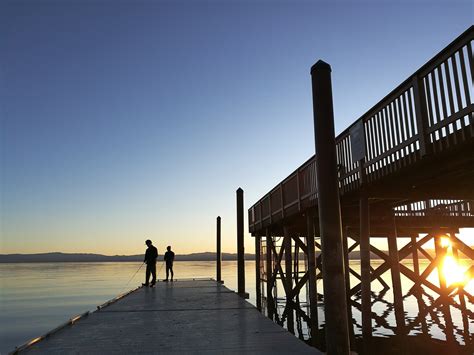
[[[382,261],[373,261],[376,269]],[[427,261],[420,260],[420,267],[426,267]],[[358,261],[350,261],[351,268],[360,273]],[[405,262],[412,268],[410,262]],[[463,261],[463,269],[472,265],[471,261]],[[7,353],[16,345],[39,336],[71,316],[94,310],[99,304],[115,297],[137,270],[139,263],[51,263],[51,264],[0,264],[0,352]],[[215,263],[211,261],[176,262],[174,265],[176,278],[213,277]],[[255,263],[246,262],[246,290],[250,294],[249,301],[256,304]],[[300,262],[301,279],[305,270],[304,262]],[[237,289],[237,264],[225,261],[222,265],[222,277],[225,286],[231,290]],[[161,271],[163,272],[163,270]],[[162,273],[159,275],[162,278]],[[128,288],[134,288],[143,281],[141,273],[130,282]],[[437,274],[430,275],[435,282]],[[382,282],[383,281],[383,282]],[[351,276],[351,285],[358,282],[356,276]],[[406,317],[405,332],[396,327],[393,292],[384,287],[384,283],[391,285],[390,273],[382,275],[379,282],[373,282],[372,312],[374,346],[379,346],[378,338],[390,337],[390,341],[406,335],[410,339],[416,337],[416,344],[410,345],[419,349],[423,344],[437,342],[438,349],[444,349],[446,341],[452,341],[461,350],[472,349],[474,346],[474,300],[469,294],[473,293],[472,283],[466,287],[464,304],[459,295],[449,302],[448,306],[438,299],[430,290],[420,293],[412,292],[404,298]],[[293,332],[301,339],[308,340],[309,304],[308,289],[303,287],[291,307],[286,308],[286,299],[283,297],[281,280],[277,280],[278,289],[275,292],[275,309],[277,321],[284,327],[293,324]],[[403,289],[409,290],[413,283],[402,277]],[[321,295],[322,280],[318,280],[318,320],[320,344],[324,347],[324,299]],[[384,290],[385,288],[385,290]],[[280,293],[278,292],[280,291]],[[354,323],[355,341],[361,334],[360,295],[355,294],[352,304],[352,321]],[[264,311],[268,308],[263,302]],[[285,308],[287,309],[285,312]],[[291,310],[290,310],[291,308]],[[289,315],[291,315],[289,317]],[[8,326],[7,326],[8,325]],[[398,339],[398,338],[397,338]],[[395,340],[393,340],[395,341]],[[405,340],[407,342],[407,340]],[[420,345],[421,344],[421,345]],[[448,349],[449,350],[449,349]],[[457,351],[457,350],[456,350]],[[472,354],[472,350],[469,354]],[[418,353],[427,353],[418,351]],[[448,352],[446,352],[448,353]],[[455,353],[455,352],[449,352]]]

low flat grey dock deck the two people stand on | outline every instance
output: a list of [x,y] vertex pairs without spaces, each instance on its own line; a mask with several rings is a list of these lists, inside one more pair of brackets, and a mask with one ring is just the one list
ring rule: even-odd
[[318,353],[212,280],[140,288],[22,352]]

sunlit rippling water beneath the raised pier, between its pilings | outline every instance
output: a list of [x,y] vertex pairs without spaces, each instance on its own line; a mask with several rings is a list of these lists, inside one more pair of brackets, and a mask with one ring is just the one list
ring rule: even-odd
[[[447,254],[449,257],[449,254]],[[448,258],[449,260],[449,258]],[[382,265],[383,261],[372,261],[373,269]],[[420,260],[422,269],[429,265],[428,260]],[[446,260],[445,260],[446,263]],[[403,263],[406,267],[412,268],[411,262]],[[457,267],[462,270],[469,270],[471,260],[461,260]],[[446,265],[446,264],[444,264]],[[351,275],[351,285],[359,282],[360,264],[357,261],[350,261],[353,269]],[[300,265],[300,270],[304,270],[304,265]],[[452,269],[444,269],[451,272]],[[429,276],[429,280],[435,283],[437,273]],[[281,280],[276,281],[278,289],[283,290]],[[456,291],[456,296],[439,296],[436,292],[424,288],[416,287],[412,289],[413,282],[402,276],[402,288],[406,294],[403,296],[405,324],[398,324],[395,317],[395,305],[393,292],[387,286],[391,285],[390,273],[384,273],[379,282],[372,283],[372,330],[374,338],[384,338],[390,343],[388,350],[384,353],[469,353],[474,351],[474,306],[471,296],[471,284]],[[451,285],[451,282],[447,282]],[[318,290],[323,289],[323,281],[318,280]],[[410,290],[410,291],[409,291]],[[408,292],[407,292],[408,291]],[[281,291],[283,292],[283,291]],[[318,294],[318,320],[320,348],[324,349],[324,298]],[[310,320],[308,315],[309,304],[308,289],[304,287],[293,302],[287,302],[284,297],[275,297],[272,305],[264,305],[268,308],[275,307],[274,319],[280,325],[288,328],[296,336],[310,343]],[[357,350],[361,353],[379,353],[377,346],[381,346],[380,339],[371,341],[367,348],[362,346],[362,324],[361,324],[361,292],[355,293],[351,298],[352,323],[354,328],[353,343],[359,344]],[[389,338],[389,339],[388,339]],[[409,348],[405,348],[410,344]],[[375,346],[375,348],[374,348]],[[380,349],[380,348],[379,348]],[[392,349],[392,350],[390,350]]]

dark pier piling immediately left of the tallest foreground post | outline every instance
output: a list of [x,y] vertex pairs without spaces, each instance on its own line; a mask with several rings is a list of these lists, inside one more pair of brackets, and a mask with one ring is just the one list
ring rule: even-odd
[[316,281],[316,252],[314,249],[314,220],[313,215],[308,212],[306,214],[307,229],[307,248],[308,248],[308,273],[309,273],[309,309],[310,309],[310,328],[311,328],[311,345],[318,346],[318,290]]

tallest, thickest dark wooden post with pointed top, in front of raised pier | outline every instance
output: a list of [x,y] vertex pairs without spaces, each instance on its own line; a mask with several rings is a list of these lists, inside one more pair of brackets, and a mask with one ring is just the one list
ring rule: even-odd
[[342,255],[341,206],[337,179],[331,66],[311,68],[313,87],[319,229],[323,254],[324,309],[328,354],[349,354],[349,327]]

